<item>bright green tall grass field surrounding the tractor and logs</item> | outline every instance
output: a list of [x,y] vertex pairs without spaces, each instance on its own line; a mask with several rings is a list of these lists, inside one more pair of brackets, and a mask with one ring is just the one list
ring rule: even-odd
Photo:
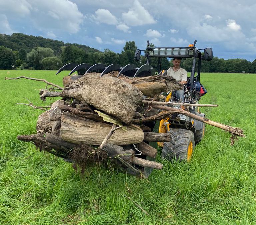
[[[162,170],[142,180],[99,167],[83,176],[72,165],[19,142],[36,132],[45,83],[62,85],[65,72],[0,71],[0,224],[256,224],[256,74],[203,73],[207,118],[244,130],[230,134],[206,125],[189,163],[161,159]],[[24,98],[26,97],[26,98]],[[54,100],[52,100],[54,101]],[[131,200],[132,199],[132,200]],[[142,210],[147,212],[147,214]]]

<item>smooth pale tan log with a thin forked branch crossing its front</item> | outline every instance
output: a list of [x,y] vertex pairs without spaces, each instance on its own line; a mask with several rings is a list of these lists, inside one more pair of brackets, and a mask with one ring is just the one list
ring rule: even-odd
[[[60,136],[71,143],[100,145],[108,135],[112,125],[95,122],[64,112],[61,117]],[[142,142],[144,133],[139,126],[126,126],[127,130],[118,129],[107,141],[108,144],[128,145]]]

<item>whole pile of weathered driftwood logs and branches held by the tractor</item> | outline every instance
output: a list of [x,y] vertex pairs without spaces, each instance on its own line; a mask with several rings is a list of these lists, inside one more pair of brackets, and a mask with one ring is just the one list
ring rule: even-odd
[[171,139],[170,134],[153,133],[149,126],[152,121],[185,113],[232,135],[243,136],[238,128],[222,126],[185,110],[163,106],[163,102],[143,98],[181,89],[172,77],[121,75],[117,78],[116,75],[112,72],[102,77],[99,73],[67,76],[63,78],[64,88],[41,79],[6,78],[44,81],[60,91],[41,90],[42,100],[62,98],[38,117],[37,134],[20,135],[18,140],[32,142],[40,150],[72,162],[82,171],[89,164],[107,166],[111,162],[121,172],[143,177],[145,168],[162,169],[162,164],[154,161],[157,150],[149,143]]

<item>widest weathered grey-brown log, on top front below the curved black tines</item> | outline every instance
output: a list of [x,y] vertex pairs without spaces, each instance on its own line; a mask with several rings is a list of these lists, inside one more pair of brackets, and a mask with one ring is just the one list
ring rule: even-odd
[[99,73],[89,73],[69,83],[61,96],[85,101],[124,123],[131,123],[135,110],[143,99],[134,85]]

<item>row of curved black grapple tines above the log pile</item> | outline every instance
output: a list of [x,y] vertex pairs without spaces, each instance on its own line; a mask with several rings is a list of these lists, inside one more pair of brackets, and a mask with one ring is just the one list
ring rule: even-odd
[[133,78],[151,76],[155,72],[155,69],[148,64],[144,64],[141,67],[137,67],[134,64],[128,64],[122,67],[119,64],[111,64],[109,66],[106,66],[105,64],[102,64],[102,63],[97,63],[94,65],[91,65],[88,63],[82,63],[82,64],[68,63],[63,67],[61,67],[59,71],[56,73],[56,75],[63,70],[71,70],[69,75],[71,75],[76,71],[78,75],[85,75],[87,73],[98,72],[98,73],[101,73],[100,77],[112,71],[118,71],[119,73],[117,77],[123,74],[125,76],[133,77]]

